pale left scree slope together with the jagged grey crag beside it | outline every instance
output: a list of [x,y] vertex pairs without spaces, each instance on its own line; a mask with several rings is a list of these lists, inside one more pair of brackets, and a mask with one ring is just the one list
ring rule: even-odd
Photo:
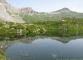
[[20,13],[28,14],[28,15],[37,15],[38,12],[34,11],[30,7],[26,8],[15,8],[8,4],[5,0],[0,0],[0,20],[16,22],[16,23],[24,23],[22,17],[20,17]]

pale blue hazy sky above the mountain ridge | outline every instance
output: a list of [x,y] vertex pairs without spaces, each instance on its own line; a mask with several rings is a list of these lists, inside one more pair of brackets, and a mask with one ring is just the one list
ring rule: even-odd
[[62,8],[83,12],[83,0],[6,0],[10,5],[23,8],[31,7],[38,12],[52,12]]

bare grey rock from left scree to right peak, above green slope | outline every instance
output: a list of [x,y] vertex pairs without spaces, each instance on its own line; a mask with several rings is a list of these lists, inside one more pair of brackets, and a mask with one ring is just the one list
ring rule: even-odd
[[[47,18],[47,17],[50,17],[50,15],[52,14],[57,15],[63,12],[73,12],[73,11],[69,10],[68,8],[63,8],[63,9],[53,11],[53,12],[48,12],[48,13],[37,12],[37,11],[34,11],[31,7],[15,8],[11,6],[10,4],[8,4],[6,0],[0,0],[0,20],[2,21],[24,23],[25,20],[23,19],[23,17],[25,15],[39,17],[41,20],[42,18],[41,13],[43,13],[43,16],[44,16],[43,18]],[[22,14],[22,16],[20,16],[20,14]]]

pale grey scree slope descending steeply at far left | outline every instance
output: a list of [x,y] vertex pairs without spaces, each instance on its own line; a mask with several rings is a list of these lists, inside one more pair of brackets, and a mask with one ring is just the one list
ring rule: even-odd
[[9,5],[5,0],[0,0],[0,19],[10,22],[24,22],[18,14],[19,9]]

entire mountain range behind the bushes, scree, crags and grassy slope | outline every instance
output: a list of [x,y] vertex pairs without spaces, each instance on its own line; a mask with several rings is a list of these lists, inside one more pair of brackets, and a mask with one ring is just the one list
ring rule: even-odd
[[68,8],[62,8],[48,13],[37,12],[31,7],[15,8],[8,4],[6,0],[0,0],[0,20],[2,21],[24,23],[30,21],[59,20],[65,17],[82,18],[83,13],[77,13]]

